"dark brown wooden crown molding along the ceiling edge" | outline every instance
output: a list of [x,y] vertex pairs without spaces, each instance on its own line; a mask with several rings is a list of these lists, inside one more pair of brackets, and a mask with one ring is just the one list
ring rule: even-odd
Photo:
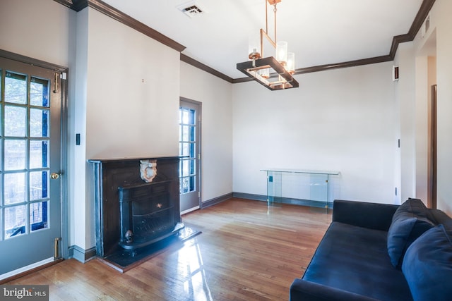
[[[179,52],[185,49],[185,47],[182,44],[179,44],[174,40],[169,39],[169,37],[166,37],[165,35],[162,35],[160,32],[153,30],[152,28],[148,27],[148,25],[145,25],[139,22],[138,20],[131,18],[131,16],[128,16],[125,13],[122,13],[121,11],[118,11],[116,8],[109,6],[108,4],[100,0],[54,0],[54,1],[57,1],[59,4],[69,7],[74,11],[81,11],[83,8],[89,6],[91,8],[96,9],[97,11],[100,11],[101,13],[104,13],[106,16],[109,16],[114,20],[117,20],[118,22],[123,23],[124,25],[127,25],[137,30],[138,32],[141,32],[144,35],[147,35],[148,37],[157,40],[158,42],[167,45],[172,49],[175,49]],[[434,3],[435,0],[422,1],[421,7],[419,11],[417,11],[415,20],[413,20],[408,33],[393,37],[391,50],[389,51],[389,54],[384,56],[375,56],[368,59],[359,59],[355,61],[345,61],[342,63],[331,63],[320,66],[311,66],[307,68],[298,68],[297,70],[295,70],[295,74],[313,73],[337,68],[348,68],[354,66],[369,65],[371,63],[383,63],[386,61],[393,61],[394,57],[396,56],[398,45],[400,43],[411,42],[412,40],[415,39],[417,32],[419,32],[420,28],[422,27],[422,24],[424,23],[425,18],[427,18],[427,16],[429,15],[429,11],[432,9]],[[185,54],[181,54],[180,59],[181,61],[184,61],[185,63],[188,63],[191,66],[204,70],[207,73],[215,75],[218,78],[222,78],[222,80],[226,80],[227,82],[231,82],[233,84],[253,80],[252,78],[230,78],[229,76],[219,72],[218,70],[210,68],[209,66],[199,61],[196,61],[195,59],[191,59],[189,56],[186,56]]]

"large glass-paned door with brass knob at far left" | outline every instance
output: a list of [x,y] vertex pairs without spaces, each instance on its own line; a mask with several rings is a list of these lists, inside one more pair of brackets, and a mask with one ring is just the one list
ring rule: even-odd
[[3,57],[0,79],[0,276],[8,276],[52,262],[61,238],[61,80]]

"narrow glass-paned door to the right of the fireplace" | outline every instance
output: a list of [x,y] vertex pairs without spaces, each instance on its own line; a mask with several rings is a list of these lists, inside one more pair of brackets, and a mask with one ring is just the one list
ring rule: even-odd
[[199,208],[201,104],[181,99],[179,108],[179,192],[181,213]]

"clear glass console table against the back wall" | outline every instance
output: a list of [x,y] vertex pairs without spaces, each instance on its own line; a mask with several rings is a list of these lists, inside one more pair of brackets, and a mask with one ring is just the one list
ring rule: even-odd
[[328,209],[330,201],[330,177],[339,171],[308,171],[292,169],[262,169],[267,173],[267,204],[299,204]]

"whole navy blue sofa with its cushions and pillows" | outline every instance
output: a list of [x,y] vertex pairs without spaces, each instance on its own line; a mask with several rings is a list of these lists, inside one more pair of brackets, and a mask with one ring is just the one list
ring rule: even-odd
[[452,300],[452,219],[420,199],[335,200],[290,300]]

